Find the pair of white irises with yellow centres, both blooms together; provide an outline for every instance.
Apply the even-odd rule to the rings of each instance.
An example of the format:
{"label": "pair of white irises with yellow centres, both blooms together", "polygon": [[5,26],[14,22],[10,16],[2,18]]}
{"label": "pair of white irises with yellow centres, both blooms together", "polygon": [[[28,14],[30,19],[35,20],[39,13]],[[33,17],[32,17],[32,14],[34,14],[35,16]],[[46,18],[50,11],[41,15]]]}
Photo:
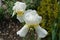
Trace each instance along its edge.
{"label": "pair of white irises with yellow centres, both blooms together", "polygon": [[48,32],[39,25],[42,20],[42,17],[37,14],[36,10],[25,9],[26,4],[23,2],[16,2],[13,6],[13,15],[14,13],[17,13],[17,19],[20,22],[25,21],[26,23],[19,31],[17,31],[17,35],[19,35],[20,37],[25,37],[30,26],[32,25],[35,28],[38,37],[44,38],[48,34]]}

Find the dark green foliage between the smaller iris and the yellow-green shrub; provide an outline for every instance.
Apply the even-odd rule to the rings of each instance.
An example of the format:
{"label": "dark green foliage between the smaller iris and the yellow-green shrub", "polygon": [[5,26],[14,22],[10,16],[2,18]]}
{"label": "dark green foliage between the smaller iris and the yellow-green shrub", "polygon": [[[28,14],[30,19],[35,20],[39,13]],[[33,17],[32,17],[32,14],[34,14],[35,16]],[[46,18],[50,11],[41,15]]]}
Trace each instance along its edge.
{"label": "dark green foliage between the smaller iris and the yellow-green shrub", "polygon": [[27,4],[27,9],[37,9],[40,0],[23,0]]}

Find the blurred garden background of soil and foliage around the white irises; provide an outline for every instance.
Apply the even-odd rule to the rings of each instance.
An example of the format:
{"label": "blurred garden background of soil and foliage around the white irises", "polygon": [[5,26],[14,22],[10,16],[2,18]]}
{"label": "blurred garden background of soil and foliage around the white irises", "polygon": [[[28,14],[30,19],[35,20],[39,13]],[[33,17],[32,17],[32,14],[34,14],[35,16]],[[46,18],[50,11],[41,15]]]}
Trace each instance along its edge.
{"label": "blurred garden background of soil and foliage around the white irises", "polygon": [[41,40],[60,40],[60,0],[0,0],[0,39],[1,40],[37,40],[35,30],[29,30],[25,38],[16,35],[24,25],[11,17],[12,7],[16,1],[27,4],[26,9],[35,9],[42,16],[41,26],[48,31],[48,35]]}

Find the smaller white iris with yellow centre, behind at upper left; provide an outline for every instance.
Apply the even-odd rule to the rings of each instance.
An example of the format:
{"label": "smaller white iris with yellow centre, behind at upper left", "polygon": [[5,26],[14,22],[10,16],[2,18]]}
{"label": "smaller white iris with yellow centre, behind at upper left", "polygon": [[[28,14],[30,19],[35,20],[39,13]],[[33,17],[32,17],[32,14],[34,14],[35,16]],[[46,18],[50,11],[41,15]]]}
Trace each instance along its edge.
{"label": "smaller white iris with yellow centre, behind at upper left", "polygon": [[20,21],[20,22],[24,22],[23,20],[23,14],[24,14],[24,11],[26,9],[26,4],[23,3],[23,2],[16,2],[13,6],[13,15],[14,16],[16,13],[17,13],[17,19]]}

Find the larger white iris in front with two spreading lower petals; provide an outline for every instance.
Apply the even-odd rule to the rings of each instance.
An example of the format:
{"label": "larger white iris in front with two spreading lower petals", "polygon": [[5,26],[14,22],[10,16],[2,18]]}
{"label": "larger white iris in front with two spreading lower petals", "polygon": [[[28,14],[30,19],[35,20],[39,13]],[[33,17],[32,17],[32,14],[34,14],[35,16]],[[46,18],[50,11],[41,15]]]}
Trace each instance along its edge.
{"label": "larger white iris in front with two spreading lower petals", "polygon": [[35,28],[35,31],[40,38],[44,38],[48,34],[47,31],[39,25],[42,17],[39,16],[35,10],[27,10],[24,13],[24,20],[26,24],[17,32],[17,35],[20,37],[25,37],[31,26]]}

